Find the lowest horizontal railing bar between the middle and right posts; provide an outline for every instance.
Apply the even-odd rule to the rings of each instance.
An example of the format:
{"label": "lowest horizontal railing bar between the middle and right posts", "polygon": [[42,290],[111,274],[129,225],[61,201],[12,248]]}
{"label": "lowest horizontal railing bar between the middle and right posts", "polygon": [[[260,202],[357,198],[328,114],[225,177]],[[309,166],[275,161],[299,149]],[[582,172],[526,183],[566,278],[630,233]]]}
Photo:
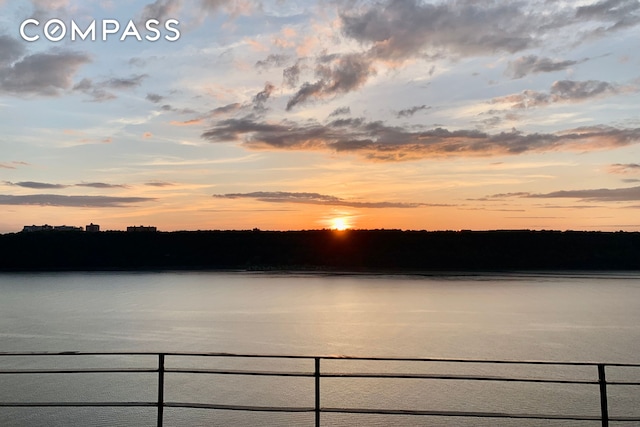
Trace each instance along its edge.
{"label": "lowest horizontal railing bar between the middle and right posts", "polygon": [[419,411],[409,409],[322,408],[321,412],[366,415],[420,415],[434,417],[511,418],[530,420],[600,421],[598,416],[556,414],[509,414],[505,412]]}

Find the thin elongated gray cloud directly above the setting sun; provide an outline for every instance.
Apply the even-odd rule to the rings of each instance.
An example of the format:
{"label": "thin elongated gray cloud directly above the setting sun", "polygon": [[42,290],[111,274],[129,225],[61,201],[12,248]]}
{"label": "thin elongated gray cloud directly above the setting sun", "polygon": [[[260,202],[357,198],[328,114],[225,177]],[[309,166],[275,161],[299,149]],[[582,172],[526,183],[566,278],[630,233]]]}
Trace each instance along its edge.
{"label": "thin elongated gray cloud directly above the setting sun", "polygon": [[336,196],[328,196],[319,193],[290,193],[286,191],[256,191],[253,193],[214,194],[220,199],[255,199],[261,202],[272,203],[303,203],[310,205],[345,206],[350,208],[417,208],[420,206],[441,206],[425,203],[402,202],[358,202],[345,200]]}

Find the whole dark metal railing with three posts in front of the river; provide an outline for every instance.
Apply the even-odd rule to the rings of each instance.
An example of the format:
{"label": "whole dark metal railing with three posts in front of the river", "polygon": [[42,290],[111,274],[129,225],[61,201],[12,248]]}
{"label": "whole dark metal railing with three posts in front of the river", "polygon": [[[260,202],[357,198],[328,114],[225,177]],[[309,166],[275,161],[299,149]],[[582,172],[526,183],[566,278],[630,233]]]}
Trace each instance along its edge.
{"label": "whole dark metal railing with three posts in front of the river", "polygon": [[[42,358],[60,356],[109,356],[109,357],[155,357],[157,367],[153,368],[31,368],[31,369],[0,369],[0,375],[34,375],[34,374],[102,374],[102,373],[148,373],[157,375],[157,399],[155,401],[66,401],[66,402],[0,402],[0,408],[20,408],[20,407],[155,407],[157,410],[157,425],[162,427],[164,421],[165,408],[192,408],[192,409],[214,409],[225,411],[257,411],[257,412],[285,412],[285,413],[314,413],[315,426],[320,426],[320,415],[328,413],[341,414],[370,414],[370,415],[415,415],[415,416],[438,416],[438,417],[466,417],[466,418],[510,418],[529,420],[567,420],[567,421],[592,421],[600,422],[603,427],[609,426],[609,422],[640,422],[638,416],[610,416],[607,396],[607,386],[640,386],[638,381],[608,381],[606,377],[607,368],[640,368],[640,364],[625,363],[592,363],[592,362],[551,362],[551,361],[523,361],[523,360],[473,360],[473,359],[443,359],[443,358],[382,358],[382,357],[347,357],[347,356],[293,356],[293,355],[258,355],[258,354],[228,354],[228,353],[150,353],[150,352],[23,352],[23,353],[0,353],[0,361],[5,358]],[[200,368],[173,368],[166,366],[167,358],[185,357],[207,357],[207,358],[232,358],[232,359],[297,359],[301,361],[313,362],[313,368],[308,371],[267,371],[267,370],[236,370],[236,369],[200,369]],[[415,363],[447,363],[447,364],[492,364],[492,365],[523,365],[529,367],[583,367],[593,369],[592,379],[567,379],[567,378],[533,378],[523,376],[488,376],[488,375],[452,375],[442,373],[404,373],[404,372],[324,372],[321,369],[321,362],[327,361],[357,361],[357,362],[415,362]],[[597,376],[595,375],[597,372]],[[165,400],[165,376],[167,374],[209,374],[209,375],[248,375],[267,377],[296,377],[313,378],[313,406],[246,406],[229,405],[215,403],[193,403],[193,402],[168,402]],[[483,382],[513,382],[513,383],[542,383],[542,384],[573,384],[573,385],[597,385],[599,390],[600,414],[580,415],[580,414],[526,414],[526,413],[506,413],[506,412],[467,412],[467,411],[435,411],[435,410],[409,410],[392,408],[353,408],[353,407],[325,407],[322,406],[321,380],[323,378],[369,378],[369,379],[419,379],[419,380],[451,380],[451,381],[483,381]],[[0,385],[0,387],[2,387]]]}

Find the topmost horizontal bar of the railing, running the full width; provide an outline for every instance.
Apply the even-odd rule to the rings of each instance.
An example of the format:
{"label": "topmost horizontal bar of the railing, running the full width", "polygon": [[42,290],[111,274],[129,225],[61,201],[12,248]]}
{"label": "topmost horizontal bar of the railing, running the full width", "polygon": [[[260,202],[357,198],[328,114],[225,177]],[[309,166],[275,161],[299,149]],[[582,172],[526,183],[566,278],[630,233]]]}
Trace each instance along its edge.
{"label": "topmost horizontal bar of the railing, running the full width", "polygon": [[547,361],[547,360],[488,360],[488,359],[447,359],[447,358],[402,358],[402,357],[360,357],[360,356],[305,356],[305,355],[276,355],[276,354],[234,354],[234,353],[182,353],[182,352],[0,352],[2,356],[189,356],[189,357],[234,357],[234,358],[262,358],[262,359],[305,359],[314,360],[366,360],[382,362],[442,362],[442,363],[478,363],[478,364],[509,364],[509,365],[552,365],[552,366],[597,366],[640,368],[640,363],[598,363],[579,361]]}

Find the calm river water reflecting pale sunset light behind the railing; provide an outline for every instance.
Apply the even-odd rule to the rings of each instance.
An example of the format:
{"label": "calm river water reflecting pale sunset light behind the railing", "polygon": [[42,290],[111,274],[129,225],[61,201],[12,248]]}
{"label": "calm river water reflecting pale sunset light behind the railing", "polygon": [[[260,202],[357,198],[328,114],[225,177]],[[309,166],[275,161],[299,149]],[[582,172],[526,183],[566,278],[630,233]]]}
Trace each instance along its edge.
{"label": "calm river water reflecting pale sunset light behind the railing", "polygon": [[[640,362],[637,273],[21,273],[0,274],[0,296],[3,352],[227,352]],[[56,363],[94,366],[100,362],[63,359]],[[3,368],[13,369],[33,366],[32,361],[22,358],[4,358],[0,363]],[[150,358],[125,363],[154,367],[156,361]],[[192,359],[187,363],[209,366],[212,362]],[[287,365],[284,370],[311,368]],[[327,362],[328,370],[342,368]],[[380,368],[387,367],[353,367],[356,371]],[[460,373],[459,367],[443,369]],[[485,368],[470,369],[476,372]],[[576,369],[559,375],[592,378],[593,372]],[[64,379],[52,375],[4,375],[0,381],[2,401],[153,401],[156,396],[156,378],[152,374],[70,375]],[[166,400],[313,405],[312,379],[282,381],[174,374],[167,376]],[[323,381],[323,405],[333,407],[599,413],[597,387],[593,386]],[[614,415],[640,415],[635,409],[640,407],[640,388],[623,388],[612,390],[610,407]],[[154,414],[153,409],[130,408],[0,408],[0,425],[155,425]],[[313,425],[313,416],[308,414],[171,408],[165,414],[165,425],[176,426]],[[323,425],[335,426],[598,425],[584,421],[543,423],[323,414]]]}

